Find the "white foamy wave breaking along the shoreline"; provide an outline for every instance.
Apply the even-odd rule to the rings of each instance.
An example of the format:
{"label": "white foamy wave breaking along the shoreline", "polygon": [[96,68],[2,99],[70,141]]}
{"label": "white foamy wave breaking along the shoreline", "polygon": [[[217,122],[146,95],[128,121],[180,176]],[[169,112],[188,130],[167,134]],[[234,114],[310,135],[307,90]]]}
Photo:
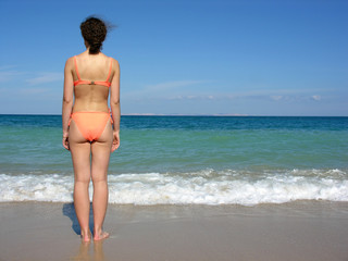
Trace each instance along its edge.
{"label": "white foamy wave breaking along the shoreline", "polygon": [[[0,202],[72,202],[73,182],[73,176],[59,174],[0,174]],[[145,206],[348,201],[348,177],[345,171],[339,170],[294,170],[261,174],[213,170],[186,174],[111,174],[109,195],[110,203]]]}

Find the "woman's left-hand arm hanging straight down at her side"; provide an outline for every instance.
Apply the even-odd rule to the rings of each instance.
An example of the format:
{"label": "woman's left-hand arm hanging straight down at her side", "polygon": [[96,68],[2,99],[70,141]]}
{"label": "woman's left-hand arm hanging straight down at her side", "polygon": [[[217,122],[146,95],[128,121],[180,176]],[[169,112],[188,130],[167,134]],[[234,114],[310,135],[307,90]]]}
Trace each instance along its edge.
{"label": "woman's left-hand arm hanging straight down at her side", "polygon": [[64,69],[64,92],[62,105],[63,146],[69,150],[69,121],[74,102],[73,60],[67,59]]}

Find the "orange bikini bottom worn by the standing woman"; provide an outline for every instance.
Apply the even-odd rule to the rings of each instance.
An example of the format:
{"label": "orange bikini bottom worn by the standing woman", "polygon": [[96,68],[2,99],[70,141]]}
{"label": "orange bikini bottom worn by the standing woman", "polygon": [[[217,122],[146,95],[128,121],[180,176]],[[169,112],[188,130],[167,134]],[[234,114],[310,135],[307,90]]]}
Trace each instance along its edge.
{"label": "orange bikini bottom worn by the standing woman", "polygon": [[88,140],[97,140],[104,130],[108,121],[112,124],[112,119],[109,112],[74,112],[71,115],[69,125],[72,120],[77,125],[78,130]]}

